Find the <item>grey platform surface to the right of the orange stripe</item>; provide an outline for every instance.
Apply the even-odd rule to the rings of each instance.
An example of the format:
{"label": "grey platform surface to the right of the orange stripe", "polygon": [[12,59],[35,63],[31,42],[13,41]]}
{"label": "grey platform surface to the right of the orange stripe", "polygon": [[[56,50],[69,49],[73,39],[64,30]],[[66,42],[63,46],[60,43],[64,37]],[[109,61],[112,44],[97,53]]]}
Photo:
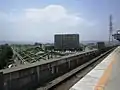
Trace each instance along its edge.
{"label": "grey platform surface to the right of the orange stripe", "polygon": [[105,90],[120,90],[120,47],[116,50],[114,63]]}

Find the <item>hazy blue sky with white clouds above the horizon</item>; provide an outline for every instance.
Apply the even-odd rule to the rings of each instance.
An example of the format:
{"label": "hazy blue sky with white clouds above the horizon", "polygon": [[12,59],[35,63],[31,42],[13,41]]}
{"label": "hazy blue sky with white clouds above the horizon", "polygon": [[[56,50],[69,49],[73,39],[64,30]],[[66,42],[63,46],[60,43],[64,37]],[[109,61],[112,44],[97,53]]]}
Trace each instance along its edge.
{"label": "hazy blue sky with white clouds above the horizon", "polygon": [[0,0],[0,41],[53,42],[54,34],[107,41],[109,16],[120,25],[120,0]]}

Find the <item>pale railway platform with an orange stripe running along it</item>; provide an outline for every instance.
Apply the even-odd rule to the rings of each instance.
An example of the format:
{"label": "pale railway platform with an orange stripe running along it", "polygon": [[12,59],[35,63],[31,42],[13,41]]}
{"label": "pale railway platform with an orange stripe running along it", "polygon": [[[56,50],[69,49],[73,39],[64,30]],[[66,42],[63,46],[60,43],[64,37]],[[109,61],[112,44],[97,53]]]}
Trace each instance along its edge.
{"label": "pale railway platform with an orange stripe running along it", "polygon": [[69,90],[120,90],[120,46]]}

